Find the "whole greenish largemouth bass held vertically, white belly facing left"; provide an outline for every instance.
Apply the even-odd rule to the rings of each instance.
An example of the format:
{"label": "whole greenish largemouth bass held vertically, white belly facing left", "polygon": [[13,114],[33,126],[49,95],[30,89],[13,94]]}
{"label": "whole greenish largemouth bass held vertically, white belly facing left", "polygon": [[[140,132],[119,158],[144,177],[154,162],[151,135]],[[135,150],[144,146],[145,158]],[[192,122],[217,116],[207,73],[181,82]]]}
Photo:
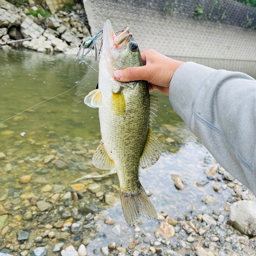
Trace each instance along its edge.
{"label": "whole greenish largemouth bass held vertically, white belly facing left", "polygon": [[159,101],[150,95],[146,81],[124,83],[113,77],[115,70],[143,66],[129,28],[115,34],[110,21],[105,20],[102,48],[98,89],[84,99],[87,105],[99,108],[102,140],[93,155],[93,164],[100,169],[116,169],[123,215],[133,225],[140,214],[157,218],[140,183],[139,167],[155,164],[162,152],[150,127]]}

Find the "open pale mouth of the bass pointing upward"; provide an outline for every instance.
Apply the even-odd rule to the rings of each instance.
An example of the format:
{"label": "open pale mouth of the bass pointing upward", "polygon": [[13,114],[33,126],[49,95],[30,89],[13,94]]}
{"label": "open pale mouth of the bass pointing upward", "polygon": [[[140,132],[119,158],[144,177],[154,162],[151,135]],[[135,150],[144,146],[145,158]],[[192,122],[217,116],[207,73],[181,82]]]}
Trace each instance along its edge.
{"label": "open pale mouth of the bass pointing upward", "polygon": [[113,48],[119,49],[126,45],[126,41],[130,36],[132,34],[128,27],[115,34],[110,20],[106,19],[103,26],[103,46],[105,53],[110,52]]}

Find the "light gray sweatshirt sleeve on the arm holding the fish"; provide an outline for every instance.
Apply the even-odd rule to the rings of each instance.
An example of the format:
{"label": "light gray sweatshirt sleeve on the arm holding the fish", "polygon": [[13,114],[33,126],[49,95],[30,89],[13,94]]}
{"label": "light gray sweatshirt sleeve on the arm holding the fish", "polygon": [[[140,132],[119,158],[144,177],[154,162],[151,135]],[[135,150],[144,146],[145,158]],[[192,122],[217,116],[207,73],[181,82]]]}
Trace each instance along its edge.
{"label": "light gray sweatshirt sleeve on the arm holding the fish", "polygon": [[169,100],[211,155],[256,195],[256,81],[186,62],[174,73]]}

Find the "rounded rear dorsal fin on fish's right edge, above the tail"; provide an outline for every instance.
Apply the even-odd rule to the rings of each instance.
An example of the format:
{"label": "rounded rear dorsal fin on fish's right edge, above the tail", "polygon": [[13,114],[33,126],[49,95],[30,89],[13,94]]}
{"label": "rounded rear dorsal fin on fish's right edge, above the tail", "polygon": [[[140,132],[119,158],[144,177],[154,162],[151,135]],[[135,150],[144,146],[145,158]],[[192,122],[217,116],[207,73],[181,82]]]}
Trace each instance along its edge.
{"label": "rounded rear dorsal fin on fish's right edge, above the tail", "polygon": [[140,167],[146,168],[154,165],[162,154],[161,142],[153,133],[151,128],[148,131],[146,144],[140,157]]}

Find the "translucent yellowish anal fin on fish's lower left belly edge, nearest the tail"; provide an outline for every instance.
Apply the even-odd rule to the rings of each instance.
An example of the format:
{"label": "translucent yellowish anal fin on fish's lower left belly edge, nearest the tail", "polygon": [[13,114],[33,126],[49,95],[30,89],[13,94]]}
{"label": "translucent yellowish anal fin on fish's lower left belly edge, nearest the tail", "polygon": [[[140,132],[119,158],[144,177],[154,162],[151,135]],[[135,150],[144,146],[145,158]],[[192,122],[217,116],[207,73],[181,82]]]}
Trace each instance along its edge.
{"label": "translucent yellowish anal fin on fish's lower left belly edge, nearest the tail", "polygon": [[96,152],[93,155],[93,164],[95,167],[102,170],[109,170],[115,167],[115,163],[111,160],[106,152],[104,142],[101,140]]}

